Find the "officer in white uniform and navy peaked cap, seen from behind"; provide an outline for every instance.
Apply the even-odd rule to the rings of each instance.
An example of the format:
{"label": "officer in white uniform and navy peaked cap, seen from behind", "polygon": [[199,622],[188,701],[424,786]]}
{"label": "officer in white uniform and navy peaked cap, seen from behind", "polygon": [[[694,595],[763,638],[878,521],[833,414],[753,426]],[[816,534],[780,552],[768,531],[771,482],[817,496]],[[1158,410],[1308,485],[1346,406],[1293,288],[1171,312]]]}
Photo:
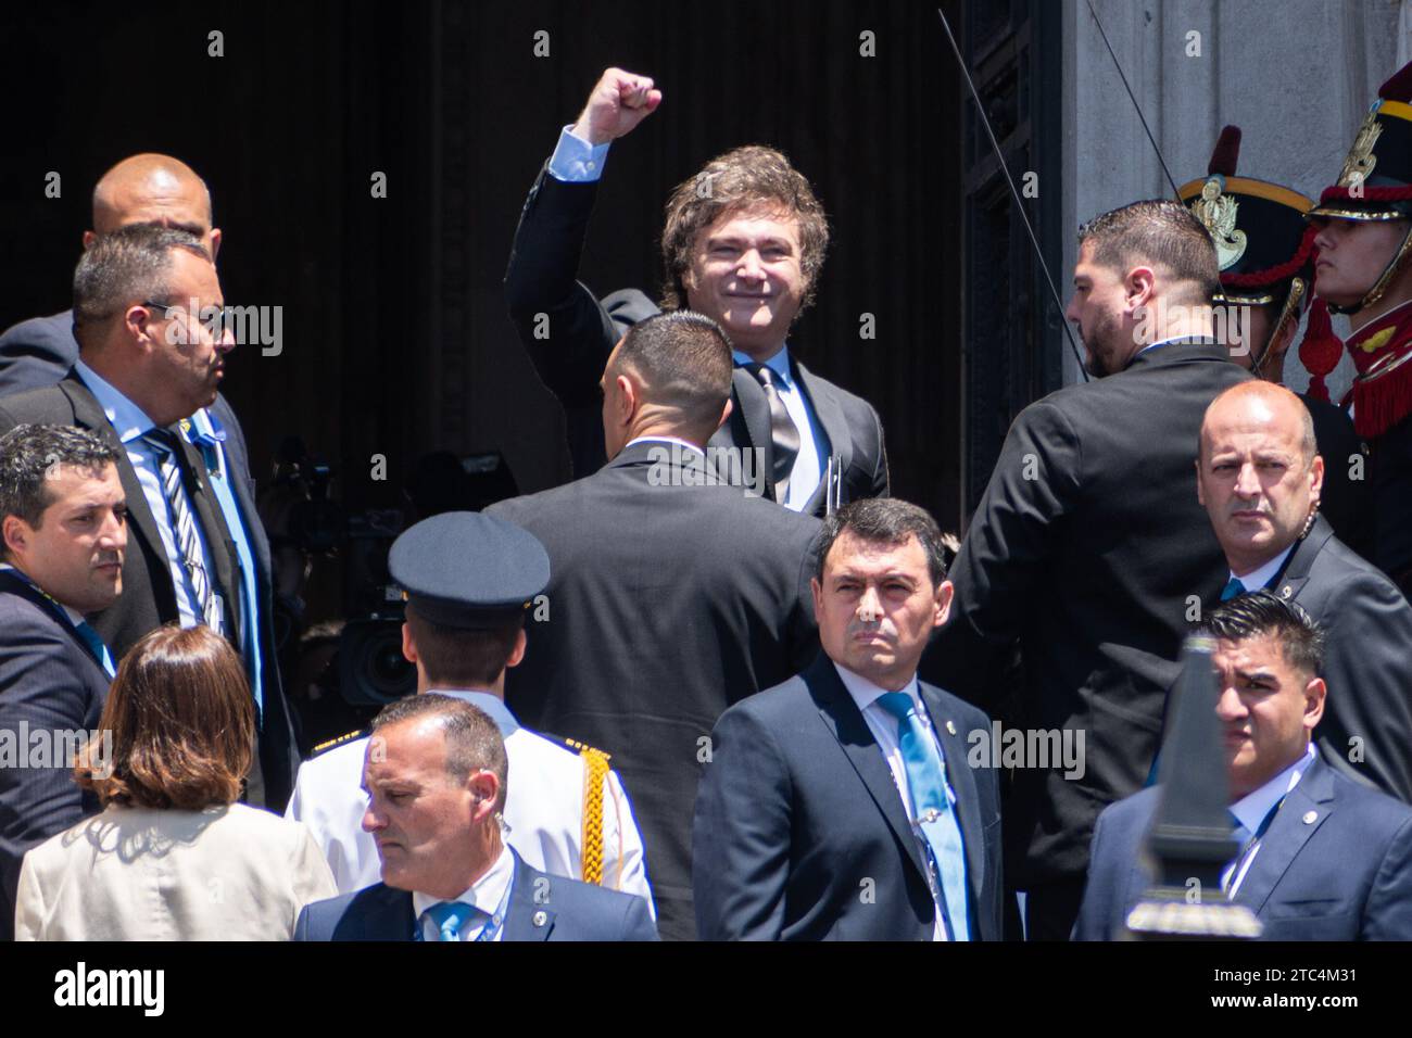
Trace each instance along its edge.
{"label": "officer in white uniform and navy peaked cap, seen from behind", "polygon": [[[472,703],[505,740],[513,777],[505,842],[534,869],[651,905],[642,839],[607,754],[530,732],[504,703],[505,668],[522,658],[525,617],[549,582],[539,541],[505,520],[448,513],[398,537],[388,571],[407,597],[402,651],[417,664],[417,691]],[[505,637],[498,654],[497,633]],[[467,661],[484,668],[481,679],[466,679]],[[380,880],[377,845],[363,830],[369,743],[356,732],[318,747],[299,768],[289,802],[288,816],[313,832],[340,893]]]}

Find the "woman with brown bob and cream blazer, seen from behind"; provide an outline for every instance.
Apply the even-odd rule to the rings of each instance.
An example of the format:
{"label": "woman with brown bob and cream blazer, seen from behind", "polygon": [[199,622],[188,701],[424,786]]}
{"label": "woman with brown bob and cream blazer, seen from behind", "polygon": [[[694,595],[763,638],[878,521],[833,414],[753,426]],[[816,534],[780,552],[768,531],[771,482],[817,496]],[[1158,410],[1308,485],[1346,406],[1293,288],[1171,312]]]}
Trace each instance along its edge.
{"label": "woman with brown bob and cream blazer, seen from behind", "polygon": [[288,941],[337,890],[309,832],[239,804],[254,753],[244,669],[206,627],[133,645],[75,780],[103,805],[24,857],[17,941]]}

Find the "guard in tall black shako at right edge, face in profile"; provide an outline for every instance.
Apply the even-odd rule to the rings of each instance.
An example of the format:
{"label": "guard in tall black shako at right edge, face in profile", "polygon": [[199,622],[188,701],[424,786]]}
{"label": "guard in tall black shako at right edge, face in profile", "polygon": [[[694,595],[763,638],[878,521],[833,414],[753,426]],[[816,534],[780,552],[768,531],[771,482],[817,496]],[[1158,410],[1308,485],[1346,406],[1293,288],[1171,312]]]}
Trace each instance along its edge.
{"label": "guard in tall black shako at right edge, face in profile", "polygon": [[1343,400],[1370,446],[1371,561],[1412,590],[1412,65],[1378,89],[1339,175],[1309,212],[1315,292],[1347,314],[1358,374]]}

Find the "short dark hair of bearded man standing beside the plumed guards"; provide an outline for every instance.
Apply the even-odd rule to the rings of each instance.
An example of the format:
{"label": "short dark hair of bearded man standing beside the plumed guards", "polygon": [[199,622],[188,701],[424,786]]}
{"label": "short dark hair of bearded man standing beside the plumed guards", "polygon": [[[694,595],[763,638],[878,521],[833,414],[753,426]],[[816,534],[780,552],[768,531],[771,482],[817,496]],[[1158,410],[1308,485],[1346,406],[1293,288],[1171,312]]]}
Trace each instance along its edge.
{"label": "short dark hair of bearded man standing beside the plumed guards", "polygon": [[1096,216],[1079,227],[1079,247],[1084,243],[1093,246],[1094,263],[1123,274],[1139,264],[1165,267],[1173,281],[1195,284],[1207,306],[1220,292],[1220,264],[1211,236],[1175,199],[1144,199]]}

